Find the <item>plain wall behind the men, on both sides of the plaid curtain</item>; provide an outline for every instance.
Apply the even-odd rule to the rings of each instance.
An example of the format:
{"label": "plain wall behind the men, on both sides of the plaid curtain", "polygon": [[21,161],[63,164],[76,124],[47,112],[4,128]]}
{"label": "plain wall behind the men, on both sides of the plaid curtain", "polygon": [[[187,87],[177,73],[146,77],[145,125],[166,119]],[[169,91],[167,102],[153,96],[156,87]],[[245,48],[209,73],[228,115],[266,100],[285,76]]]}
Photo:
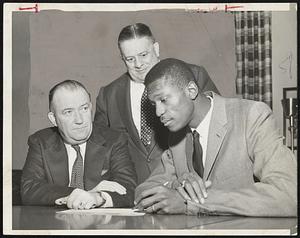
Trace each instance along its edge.
{"label": "plain wall behind the men, on both sides of the plaid curtain", "polygon": [[[82,81],[95,100],[100,86],[125,71],[116,41],[127,24],[148,24],[160,43],[162,58],[204,65],[224,96],[236,96],[231,13],[42,11],[30,14],[30,20],[20,14],[13,19],[14,169],[23,167],[28,136],[50,125],[50,87],[73,78]],[[282,131],[282,88],[297,85],[296,11],[272,13],[272,46],[273,110]],[[279,67],[289,68],[285,59],[290,54],[291,72]]]}

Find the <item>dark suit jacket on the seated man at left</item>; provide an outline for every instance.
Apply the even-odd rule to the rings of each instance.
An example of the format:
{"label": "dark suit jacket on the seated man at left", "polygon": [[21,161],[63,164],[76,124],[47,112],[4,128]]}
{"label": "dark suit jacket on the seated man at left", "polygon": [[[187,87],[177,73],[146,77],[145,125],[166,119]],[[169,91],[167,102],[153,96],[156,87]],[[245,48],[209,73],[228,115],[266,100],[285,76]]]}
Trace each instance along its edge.
{"label": "dark suit jacket on the seated man at left", "polygon": [[[68,155],[57,127],[36,132],[28,139],[29,150],[21,181],[25,205],[54,205],[57,198],[69,195]],[[104,169],[107,172],[103,174]],[[125,135],[110,128],[97,128],[86,145],[84,159],[85,190],[102,180],[123,185],[127,193],[111,195],[114,207],[131,207],[136,186],[136,172],[130,160]]]}

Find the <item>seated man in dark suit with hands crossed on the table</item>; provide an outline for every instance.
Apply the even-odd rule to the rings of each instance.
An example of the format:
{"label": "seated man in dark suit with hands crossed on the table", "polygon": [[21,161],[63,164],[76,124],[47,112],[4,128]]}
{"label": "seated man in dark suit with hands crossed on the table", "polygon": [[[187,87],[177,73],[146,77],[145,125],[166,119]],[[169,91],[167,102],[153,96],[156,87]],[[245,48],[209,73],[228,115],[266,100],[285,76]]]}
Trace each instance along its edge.
{"label": "seated man in dark suit with hands crossed on the table", "polygon": [[23,204],[131,207],[136,173],[127,138],[109,128],[92,130],[92,103],[86,88],[74,80],[55,85],[49,108],[48,118],[55,127],[28,139]]}

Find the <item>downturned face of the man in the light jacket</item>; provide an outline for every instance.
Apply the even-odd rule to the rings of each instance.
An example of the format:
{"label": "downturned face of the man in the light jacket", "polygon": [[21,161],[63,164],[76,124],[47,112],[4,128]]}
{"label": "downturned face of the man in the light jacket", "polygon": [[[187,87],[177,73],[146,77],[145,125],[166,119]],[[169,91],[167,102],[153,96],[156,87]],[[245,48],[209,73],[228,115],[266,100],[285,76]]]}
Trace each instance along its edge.
{"label": "downturned face of the man in the light jacket", "polygon": [[170,131],[178,131],[189,125],[194,112],[194,104],[187,88],[154,81],[148,86],[149,99],[155,104],[156,115]]}

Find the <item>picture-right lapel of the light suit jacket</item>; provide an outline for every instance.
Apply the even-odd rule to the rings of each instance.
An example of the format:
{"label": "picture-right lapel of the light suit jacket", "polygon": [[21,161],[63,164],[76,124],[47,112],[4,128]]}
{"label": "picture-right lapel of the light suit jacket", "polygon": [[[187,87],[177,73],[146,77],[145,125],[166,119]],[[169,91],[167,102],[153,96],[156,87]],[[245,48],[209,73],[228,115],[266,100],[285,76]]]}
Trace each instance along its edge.
{"label": "picture-right lapel of the light suit jacket", "polygon": [[214,93],[212,96],[214,99],[214,108],[208,133],[207,152],[203,175],[205,180],[207,180],[210,175],[227,132],[225,102],[220,96]]}

